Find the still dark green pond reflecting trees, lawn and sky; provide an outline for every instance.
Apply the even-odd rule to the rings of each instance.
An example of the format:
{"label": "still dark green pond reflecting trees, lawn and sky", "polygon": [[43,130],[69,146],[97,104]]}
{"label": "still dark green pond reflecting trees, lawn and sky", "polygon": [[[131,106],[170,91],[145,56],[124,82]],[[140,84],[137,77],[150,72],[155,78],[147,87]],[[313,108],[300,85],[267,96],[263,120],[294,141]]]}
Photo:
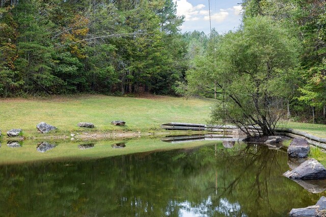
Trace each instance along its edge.
{"label": "still dark green pond reflecting trees, lawn and sky", "polygon": [[324,183],[301,183],[309,192],[282,176],[289,169],[282,148],[160,139],[31,143],[2,142],[1,216],[287,216],[325,196]]}

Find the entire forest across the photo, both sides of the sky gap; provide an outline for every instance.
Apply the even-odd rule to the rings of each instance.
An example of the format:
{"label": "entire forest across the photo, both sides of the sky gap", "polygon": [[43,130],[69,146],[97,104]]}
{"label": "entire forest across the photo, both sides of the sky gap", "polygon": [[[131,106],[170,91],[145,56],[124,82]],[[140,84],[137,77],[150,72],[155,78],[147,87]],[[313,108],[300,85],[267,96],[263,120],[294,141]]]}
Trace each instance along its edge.
{"label": "entire forest across the photo, both sides of the sky gap", "polygon": [[199,95],[264,134],[326,123],[326,2],[240,4],[237,31],[205,34],[181,33],[173,0],[1,0],[0,95]]}

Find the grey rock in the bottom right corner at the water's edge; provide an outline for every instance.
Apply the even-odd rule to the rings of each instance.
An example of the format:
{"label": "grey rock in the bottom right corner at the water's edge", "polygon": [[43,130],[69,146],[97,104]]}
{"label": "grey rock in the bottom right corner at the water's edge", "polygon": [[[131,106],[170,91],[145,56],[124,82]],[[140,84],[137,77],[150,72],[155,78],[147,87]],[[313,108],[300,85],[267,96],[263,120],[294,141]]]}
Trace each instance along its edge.
{"label": "grey rock in the bottom right corner at the water's edge", "polygon": [[290,211],[290,216],[292,217],[302,217],[302,216],[321,217],[321,216],[325,216],[325,214],[326,214],[326,197],[324,196],[322,196],[314,206],[292,209]]}

